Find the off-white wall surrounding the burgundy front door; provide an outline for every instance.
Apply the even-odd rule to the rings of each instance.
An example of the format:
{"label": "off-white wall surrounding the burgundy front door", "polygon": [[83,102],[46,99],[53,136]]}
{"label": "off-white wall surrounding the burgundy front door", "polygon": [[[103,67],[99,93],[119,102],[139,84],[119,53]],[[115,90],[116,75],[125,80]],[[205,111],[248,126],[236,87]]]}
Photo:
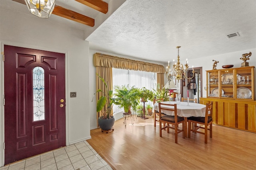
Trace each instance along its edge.
{"label": "off-white wall surrounding the burgundy front door", "polygon": [[[11,10],[10,7],[14,9]],[[66,54],[66,145],[90,139],[89,43],[74,30],[28,12],[23,4],[0,1],[1,54],[4,44]],[[0,166],[4,165],[4,63],[0,61]],[[76,98],[70,98],[76,92]]]}

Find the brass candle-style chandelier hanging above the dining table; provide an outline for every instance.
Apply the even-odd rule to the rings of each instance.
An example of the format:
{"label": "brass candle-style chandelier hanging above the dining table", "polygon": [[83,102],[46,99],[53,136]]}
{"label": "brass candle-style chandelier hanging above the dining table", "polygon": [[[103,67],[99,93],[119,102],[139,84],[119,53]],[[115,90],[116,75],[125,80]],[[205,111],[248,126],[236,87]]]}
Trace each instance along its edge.
{"label": "brass candle-style chandelier hanging above the dining table", "polygon": [[178,82],[180,82],[180,79],[184,80],[185,78],[187,79],[191,79],[194,77],[195,75],[195,71],[194,71],[194,67],[192,70],[193,75],[190,77],[186,76],[186,72],[188,70],[188,59],[186,59],[186,64],[180,64],[180,56],[179,56],[179,48],[180,46],[176,47],[178,49],[178,59],[177,59],[177,63],[174,64],[174,60],[173,60],[173,66],[172,66],[172,70],[170,68],[170,61],[168,61],[168,66],[166,66],[166,77],[168,78],[169,81],[174,80],[174,77],[176,78],[176,80],[178,80]]}

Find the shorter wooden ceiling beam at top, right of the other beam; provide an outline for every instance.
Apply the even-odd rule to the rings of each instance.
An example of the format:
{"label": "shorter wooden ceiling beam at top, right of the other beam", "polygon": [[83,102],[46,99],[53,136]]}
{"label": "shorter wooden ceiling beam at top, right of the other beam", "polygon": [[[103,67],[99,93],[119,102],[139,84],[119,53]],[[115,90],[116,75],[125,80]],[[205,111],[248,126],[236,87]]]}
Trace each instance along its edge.
{"label": "shorter wooden ceiling beam at top, right of the other beam", "polygon": [[103,0],[75,0],[75,1],[80,2],[81,4],[84,4],[86,6],[89,6],[94,10],[97,10],[104,14],[108,12],[108,3],[104,2]]}

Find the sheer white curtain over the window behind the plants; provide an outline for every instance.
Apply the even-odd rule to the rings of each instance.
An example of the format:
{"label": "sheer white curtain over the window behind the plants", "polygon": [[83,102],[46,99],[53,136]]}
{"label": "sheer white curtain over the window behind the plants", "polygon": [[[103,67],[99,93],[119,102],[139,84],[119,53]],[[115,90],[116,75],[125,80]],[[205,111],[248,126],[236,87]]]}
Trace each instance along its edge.
{"label": "sheer white curtain over the window behind the plants", "polygon": [[[134,71],[134,70],[124,70],[118,68],[112,68],[112,81],[113,86],[127,85],[130,87],[135,86],[136,88],[145,87],[152,90],[156,86],[156,73],[145,72],[145,71]],[[149,102],[152,105],[152,102]],[[147,104],[147,102],[146,102]],[[118,106],[113,106],[114,114],[122,112],[123,109],[119,109]]]}

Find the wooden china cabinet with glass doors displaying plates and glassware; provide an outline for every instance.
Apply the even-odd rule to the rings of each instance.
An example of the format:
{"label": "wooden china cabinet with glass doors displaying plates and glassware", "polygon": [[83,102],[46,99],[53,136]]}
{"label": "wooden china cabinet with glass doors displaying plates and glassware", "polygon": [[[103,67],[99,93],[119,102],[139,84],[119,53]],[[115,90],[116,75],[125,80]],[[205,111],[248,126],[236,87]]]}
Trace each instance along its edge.
{"label": "wooden china cabinet with glass doors displaying plates and glassware", "polygon": [[207,98],[213,102],[214,124],[256,133],[254,66],[206,71]]}

